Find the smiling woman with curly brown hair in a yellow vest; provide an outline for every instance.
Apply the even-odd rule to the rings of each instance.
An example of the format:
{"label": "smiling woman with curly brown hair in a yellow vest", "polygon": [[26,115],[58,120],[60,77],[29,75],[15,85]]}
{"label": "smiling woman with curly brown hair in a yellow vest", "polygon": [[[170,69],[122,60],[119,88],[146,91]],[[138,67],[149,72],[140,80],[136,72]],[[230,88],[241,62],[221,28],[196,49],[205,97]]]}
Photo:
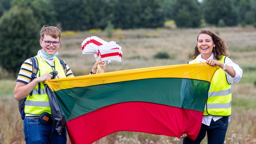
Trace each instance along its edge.
{"label": "smiling woman with curly brown hair in a yellow vest", "polygon": [[219,66],[210,84],[202,125],[195,141],[184,138],[183,144],[200,143],[206,136],[208,143],[224,143],[231,115],[231,83],[238,83],[242,69],[228,58],[227,46],[220,37],[209,30],[201,30],[189,64],[206,62]]}

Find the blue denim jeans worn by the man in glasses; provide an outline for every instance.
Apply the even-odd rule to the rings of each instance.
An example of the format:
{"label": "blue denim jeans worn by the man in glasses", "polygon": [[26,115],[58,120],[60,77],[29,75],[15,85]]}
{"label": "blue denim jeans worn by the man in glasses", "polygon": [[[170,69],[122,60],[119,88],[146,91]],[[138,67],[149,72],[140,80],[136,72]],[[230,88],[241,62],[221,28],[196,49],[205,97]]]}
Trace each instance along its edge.
{"label": "blue denim jeans worn by the man in glasses", "polygon": [[66,127],[59,135],[54,131],[53,124],[42,124],[39,118],[24,119],[24,135],[26,144],[66,144]]}

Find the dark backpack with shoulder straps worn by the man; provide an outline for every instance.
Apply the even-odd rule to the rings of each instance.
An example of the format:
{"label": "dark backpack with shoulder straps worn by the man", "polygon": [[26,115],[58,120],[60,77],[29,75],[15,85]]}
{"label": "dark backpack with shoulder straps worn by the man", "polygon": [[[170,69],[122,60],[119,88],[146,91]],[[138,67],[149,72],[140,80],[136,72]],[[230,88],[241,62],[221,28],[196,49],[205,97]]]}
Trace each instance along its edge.
{"label": "dark backpack with shoulder straps worn by the man", "polygon": [[[39,68],[38,68],[38,60],[36,57],[32,57],[30,58],[30,60],[32,61],[32,75],[31,75],[31,81],[33,81],[35,78],[36,78],[36,75],[37,75],[37,72],[39,71]],[[65,74],[67,74],[67,69],[66,69],[66,66],[65,66],[65,63],[63,60],[59,59],[61,65],[62,65],[62,68],[65,72]],[[40,77],[40,71],[39,71],[39,77]],[[38,94],[41,93],[40,91],[40,83],[38,84]],[[30,96],[32,96],[32,93],[33,91],[30,92]],[[25,112],[24,112],[24,108],[25,108],[25,102],[26,102],[26,99],[27,97],[19,100],[18,102],[18,106],[19,106],[19,111],[20,111],[20,114],[21,114],[21,119],[24,120],[25,118]]]}

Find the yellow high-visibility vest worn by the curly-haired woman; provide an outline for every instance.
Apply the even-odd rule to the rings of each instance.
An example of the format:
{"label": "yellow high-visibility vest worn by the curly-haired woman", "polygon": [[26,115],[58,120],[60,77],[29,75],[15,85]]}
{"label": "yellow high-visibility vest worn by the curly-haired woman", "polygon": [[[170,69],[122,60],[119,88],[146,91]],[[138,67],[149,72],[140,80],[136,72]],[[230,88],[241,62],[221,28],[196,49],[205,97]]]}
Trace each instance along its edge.
{"label": "yellow high-visibility vest worn by the curly-haired woman", "polygon": [[[218,62],[225,62],[226,56],[221,56]],[[189,64],[197,63],[196,59]],[[218,69],[212,79],[204,115],[230,116],[231,115],[231,85],[227,82],[226,73]]]}

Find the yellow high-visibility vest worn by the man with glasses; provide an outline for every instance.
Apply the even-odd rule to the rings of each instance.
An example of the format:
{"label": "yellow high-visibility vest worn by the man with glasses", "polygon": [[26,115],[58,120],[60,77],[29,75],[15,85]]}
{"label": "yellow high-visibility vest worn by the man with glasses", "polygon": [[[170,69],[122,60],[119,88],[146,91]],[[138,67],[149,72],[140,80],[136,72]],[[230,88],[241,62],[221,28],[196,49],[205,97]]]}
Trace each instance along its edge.
{"label": "yellow high-visibility vest worn by the man with glasses", "polygon": [[[40,56],[35,56],[38,60],[38,68],[40,75],[45,73],[50,73],[53,71],[52,67],[44,61]],[[61,66],[61,63],[57,57],[54,57],[54,68],[58,71],[58,75],[61,78],[66,78],[66,74]],[[37,73],[37,78],[39,77],[39,71]],[[44,82],[40,82],[40,94],[38,94],[38,85],[34,88],[32,96],[28,95],[25,102],[25,113],[26,114],[42,114],[47,112],[51,114],[49,97],[46,93],[46,88]]]}

